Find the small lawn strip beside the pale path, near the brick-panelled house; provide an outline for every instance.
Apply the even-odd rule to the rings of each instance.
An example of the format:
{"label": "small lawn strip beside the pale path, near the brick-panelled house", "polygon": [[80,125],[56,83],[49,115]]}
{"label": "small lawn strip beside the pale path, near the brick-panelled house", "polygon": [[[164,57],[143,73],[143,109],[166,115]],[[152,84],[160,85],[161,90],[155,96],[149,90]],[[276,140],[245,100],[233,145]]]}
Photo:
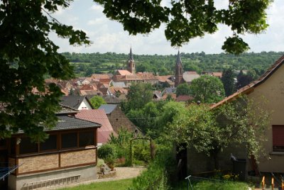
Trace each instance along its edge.
{"label": "small lawn strip beside the pale path, near the brick-panelled house", "polygon": [[66,187],[61,190],[125,190],[132,184],[132,179],[121,179],[116,181],[102,181],[75,187]]}

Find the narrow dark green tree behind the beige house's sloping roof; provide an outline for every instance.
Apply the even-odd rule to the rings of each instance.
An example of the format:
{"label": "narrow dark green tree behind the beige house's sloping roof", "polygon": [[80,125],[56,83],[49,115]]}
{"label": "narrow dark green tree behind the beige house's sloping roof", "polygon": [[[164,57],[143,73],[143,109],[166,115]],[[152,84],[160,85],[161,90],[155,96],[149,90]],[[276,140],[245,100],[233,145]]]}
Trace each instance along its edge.
{"label": "narrow dark green tree behind the beige house's sloping roof", "polygon": [[221,80],[224,85],[226,96],[230,96],[231,94],[233,94],[235,91],[235,80],[234,72],[231,68],[224,69]]}

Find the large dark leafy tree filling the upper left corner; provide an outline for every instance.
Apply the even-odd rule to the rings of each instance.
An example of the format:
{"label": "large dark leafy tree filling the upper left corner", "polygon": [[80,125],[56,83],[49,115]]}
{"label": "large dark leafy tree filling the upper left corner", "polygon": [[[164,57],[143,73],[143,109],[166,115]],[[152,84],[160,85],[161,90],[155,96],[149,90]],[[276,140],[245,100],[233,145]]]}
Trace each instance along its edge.
{"label": "large dark leafy tree filling the upper left corner", "polygon": [[[45,85],[44,76],[73,77],[69,61],[60,55],[49,34],[69,39],[70,45],[89,44],[85,33],[59,23],[50,13],[70,1],[10,1],[0,3],[0,138],[23,130],[43,140],[44,128],[57,121],[60,89]],[[33,93],[37,89],[39,93]],[[9,128],[8,128],[9,127]]]}

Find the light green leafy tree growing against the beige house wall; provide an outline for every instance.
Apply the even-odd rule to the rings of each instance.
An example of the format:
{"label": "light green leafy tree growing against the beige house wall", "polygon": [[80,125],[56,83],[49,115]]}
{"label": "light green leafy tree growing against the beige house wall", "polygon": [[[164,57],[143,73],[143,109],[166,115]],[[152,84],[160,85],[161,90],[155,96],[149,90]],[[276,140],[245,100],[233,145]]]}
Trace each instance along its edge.
{"label": "light green leafy tree growing against the beige house wall", "polygon": [[169,125],[167,139],[204,152],[214,159],[215,169],[219,169],[219,153],[229,145],[244,146],[248,156],[258,158],[263,150],[261,142],[266,139],[264,132],[268,121],[268,111],[247,99],[214,110],[192,104]]}

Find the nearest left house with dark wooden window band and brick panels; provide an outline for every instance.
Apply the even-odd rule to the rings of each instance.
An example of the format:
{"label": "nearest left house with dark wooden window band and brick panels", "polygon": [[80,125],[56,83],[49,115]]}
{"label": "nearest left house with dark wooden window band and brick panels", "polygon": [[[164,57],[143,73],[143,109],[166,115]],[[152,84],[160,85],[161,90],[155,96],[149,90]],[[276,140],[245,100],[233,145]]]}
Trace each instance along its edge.
{"label": "nearest left house with dark wooden window band and brick panels", "polygon": [[58,123],[46,129],[44,143],[31,143],[23,131],[6,139],[6,160],[18,168],[1,189],[48,188],[97,179],[97,128],[101,125],[75,118],[68,106],[56,113]]}

